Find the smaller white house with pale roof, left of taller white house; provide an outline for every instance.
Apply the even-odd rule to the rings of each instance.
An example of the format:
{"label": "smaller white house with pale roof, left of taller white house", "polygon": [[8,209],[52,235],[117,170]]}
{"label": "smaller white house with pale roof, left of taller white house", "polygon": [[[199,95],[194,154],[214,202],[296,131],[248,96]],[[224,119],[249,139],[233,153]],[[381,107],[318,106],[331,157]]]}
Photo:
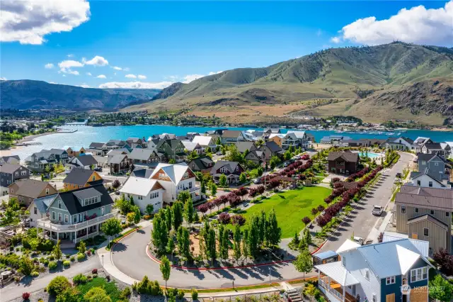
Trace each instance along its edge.
{"label": "smaller white house with pale roof, left of taller white house", "polygon": [[164,206],[164,187],[156,179],[142,177],[129,177],[120,189],[127,198],[134,198],[135,205],[139,206],[140,212],[146,213],[147,205],[152,204],[154,212]]}

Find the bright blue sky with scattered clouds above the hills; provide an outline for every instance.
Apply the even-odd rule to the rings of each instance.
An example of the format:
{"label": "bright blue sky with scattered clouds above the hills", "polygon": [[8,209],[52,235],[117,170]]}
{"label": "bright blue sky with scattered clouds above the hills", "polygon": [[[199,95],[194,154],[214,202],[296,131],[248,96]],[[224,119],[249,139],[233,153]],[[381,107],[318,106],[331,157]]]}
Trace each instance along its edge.
{"label": "bright blue sky with scattered clouds above the hills", "polygon": [[[71,1],[83,9],[71,12],[77,20],[69,29],[49,30],[43,25],[44,32],[50,33],[41,35],[36,28],[29,29],[34,33],[18,33],[1,21],[0,33],[6,38],[0,43],[0,77],[91,87],[162,88],[210,72],[268,66],[326,47],[380,44],[394,37],[453,45],[452,1],[91,1],[88,10],[84,0]],[[398,13],[420,5],[424,8]],[[432,21],[426,21],[426,16],[432,16],[427,9],[437,18],[434,28],[411,32],[410,27],[432,26]],[[40,18],[40,24],[45,24],[43,15],[23,16],[23,20]],[[398,19],[389,19],[395,15]],[[357,21],[372,16],[376,20],[371,24]],[[387,22],[377,22],[383,20]],[[68,31],[54,32],[60,30]],[[439,30],[446,33],[434,34]],[[379,34],[383,32],[384,38]],[[81,66],[74,67],[73,62],[71,67],[59,67],[65,60]],[[100,75],[105,78],[97,78]]]}

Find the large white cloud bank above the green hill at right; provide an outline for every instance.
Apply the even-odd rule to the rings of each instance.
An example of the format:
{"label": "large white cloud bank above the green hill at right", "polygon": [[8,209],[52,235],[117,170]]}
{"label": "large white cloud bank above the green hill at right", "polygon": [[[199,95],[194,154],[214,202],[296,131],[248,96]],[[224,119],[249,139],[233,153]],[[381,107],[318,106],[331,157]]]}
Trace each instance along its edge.
{"label": "large white cloud bank above the green hill at right", "polygon": [[396,15],[379,21],[374,16],[362,18],[344,26],[340,37],[365,45],[400,40],[450,46],[453,45],[453,0],[439,9],[426,9],[422,5],[401,9]]}

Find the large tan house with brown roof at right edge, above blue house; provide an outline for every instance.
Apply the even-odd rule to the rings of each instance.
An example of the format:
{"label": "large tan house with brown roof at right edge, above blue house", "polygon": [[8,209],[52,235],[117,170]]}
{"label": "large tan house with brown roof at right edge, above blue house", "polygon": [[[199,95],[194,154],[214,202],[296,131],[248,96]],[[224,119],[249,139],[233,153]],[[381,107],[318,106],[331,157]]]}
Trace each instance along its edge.
{"label": "large tan house with brown roof at right edge, above blue house", "polygon": [[430,242],[430,254],[452,250],[453,190],[401,186],[395,198],[396,232]]}

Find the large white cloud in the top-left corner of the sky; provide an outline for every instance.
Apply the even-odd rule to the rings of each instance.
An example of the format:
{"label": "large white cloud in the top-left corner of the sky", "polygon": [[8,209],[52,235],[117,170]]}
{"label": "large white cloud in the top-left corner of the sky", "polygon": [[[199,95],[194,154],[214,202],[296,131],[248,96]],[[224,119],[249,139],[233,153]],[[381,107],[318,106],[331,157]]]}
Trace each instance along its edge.
{"label": "large white cloud in the top-left corner of the sky", "polygon": [[50,33],[71,31],[90,17],[86,0],[2,0],[0,40],[40,45]]}

